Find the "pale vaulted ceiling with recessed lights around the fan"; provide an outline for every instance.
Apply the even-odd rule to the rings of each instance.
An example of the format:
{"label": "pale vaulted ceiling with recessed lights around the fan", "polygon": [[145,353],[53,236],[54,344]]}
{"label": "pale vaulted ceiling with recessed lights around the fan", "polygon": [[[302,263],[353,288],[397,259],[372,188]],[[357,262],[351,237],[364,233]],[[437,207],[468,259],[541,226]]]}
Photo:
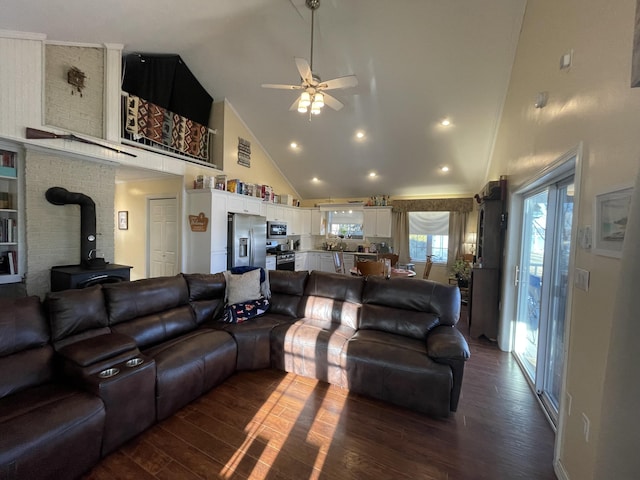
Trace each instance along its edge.
{"label": "pale vaulted ceiling with recessed lights around the fan", "polygon": [[289,111],[299,92],[261,88],[300,82],[294,58],[310,56],[305,0],[5,0],[0,29],[179,54],[216,101],[231,103],[302,198],[479,190],[526,0],[320,3],[314,72],[353,74],[359,85],[331,91],[344,108],[325,107],[311,121]]}

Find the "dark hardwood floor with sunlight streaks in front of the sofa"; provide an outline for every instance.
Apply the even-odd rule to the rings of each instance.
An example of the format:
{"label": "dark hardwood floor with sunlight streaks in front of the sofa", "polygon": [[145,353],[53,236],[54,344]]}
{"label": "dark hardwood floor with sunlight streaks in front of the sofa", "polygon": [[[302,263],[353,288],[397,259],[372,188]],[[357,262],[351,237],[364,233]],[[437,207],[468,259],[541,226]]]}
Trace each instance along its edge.
{"label": "dark hardwood floor with sunlight streaks in front of the sofa", "polygon": [[489,341],[469,344],[449,418],[280,371],[241,372],[85,479],[555,479],[554,434],[518,365]]}

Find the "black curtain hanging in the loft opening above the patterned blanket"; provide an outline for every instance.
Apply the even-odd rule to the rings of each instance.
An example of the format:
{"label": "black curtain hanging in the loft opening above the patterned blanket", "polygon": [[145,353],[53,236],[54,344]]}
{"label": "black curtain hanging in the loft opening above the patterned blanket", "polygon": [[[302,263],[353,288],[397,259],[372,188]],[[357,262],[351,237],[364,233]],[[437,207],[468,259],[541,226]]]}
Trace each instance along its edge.
{"label": "black curtain hanging in the loft opening above the patterned blanket", "polygon": [[213,97],[179,55],[131,53],[122,58],[122,90],[209,125]]}

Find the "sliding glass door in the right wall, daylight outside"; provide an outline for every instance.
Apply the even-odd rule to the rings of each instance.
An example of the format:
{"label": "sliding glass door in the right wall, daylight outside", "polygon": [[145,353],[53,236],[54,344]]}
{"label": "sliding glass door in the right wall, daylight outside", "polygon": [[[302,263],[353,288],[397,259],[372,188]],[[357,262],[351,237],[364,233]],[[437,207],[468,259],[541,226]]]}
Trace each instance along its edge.
{"label": "sliding glass door in the right wall, daylight outside", "polygon": [[565,347],[573,176],[524,194],[514,352],[557,421]]}

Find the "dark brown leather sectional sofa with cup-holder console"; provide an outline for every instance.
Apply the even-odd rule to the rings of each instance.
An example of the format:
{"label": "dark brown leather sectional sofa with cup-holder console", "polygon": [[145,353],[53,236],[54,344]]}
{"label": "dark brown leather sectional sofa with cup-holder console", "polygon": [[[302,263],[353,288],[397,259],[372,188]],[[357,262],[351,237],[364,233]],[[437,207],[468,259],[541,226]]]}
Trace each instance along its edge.
{"label": "dark brown leather sectional sofa with cup-holder console", "polygon": [[221,273],[0,300],[0,479],[76,478],[236,370],[456,410],[469,349],[455,286],[269,273],[269,312],[242,324],[219,321]]}

